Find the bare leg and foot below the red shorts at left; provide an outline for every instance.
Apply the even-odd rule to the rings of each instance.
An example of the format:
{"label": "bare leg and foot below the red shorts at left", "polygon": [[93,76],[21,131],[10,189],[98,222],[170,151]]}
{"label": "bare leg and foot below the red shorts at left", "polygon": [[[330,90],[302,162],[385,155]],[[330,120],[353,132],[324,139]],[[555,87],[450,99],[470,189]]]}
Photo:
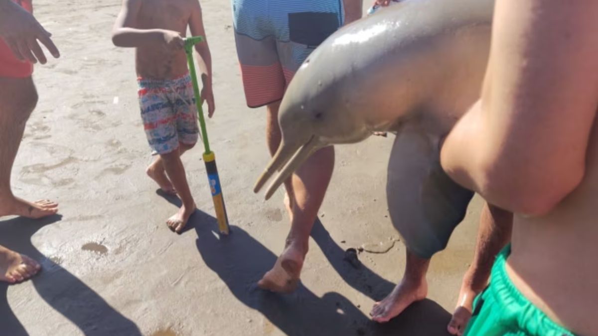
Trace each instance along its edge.
{"label": "bare leg and foot below the red shorts at left", "polygon": [[52,201],[31,202],[15,197],[10,187],[14,158],[37,99],[30,77],[0,78],[0,216],[41,218],[58,211],[58,204]]}

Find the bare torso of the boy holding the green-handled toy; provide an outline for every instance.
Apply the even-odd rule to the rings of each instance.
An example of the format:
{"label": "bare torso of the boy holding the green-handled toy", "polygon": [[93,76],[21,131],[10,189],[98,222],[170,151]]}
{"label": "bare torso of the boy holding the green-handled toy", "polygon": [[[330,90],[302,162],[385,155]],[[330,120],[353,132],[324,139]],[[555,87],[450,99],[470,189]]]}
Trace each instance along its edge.
{"label": "bare torso of the boy holding the green-handled toy", "polygon": [[[144,0],[138,12],[138,29],[167,29],[185,36],[192,12],[188,0]],[[135,53],[137,75],[144,78],[176,78],[187,72],[184,50],[173,53],[157,47],[139,47]]]}

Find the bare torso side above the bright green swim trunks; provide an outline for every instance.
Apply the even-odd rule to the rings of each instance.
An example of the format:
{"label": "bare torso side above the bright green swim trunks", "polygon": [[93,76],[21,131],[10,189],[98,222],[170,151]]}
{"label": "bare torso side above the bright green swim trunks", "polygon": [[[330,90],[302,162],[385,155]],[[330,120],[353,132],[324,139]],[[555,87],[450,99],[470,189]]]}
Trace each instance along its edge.
{"label": "bare torso side above the bright green swim trunks", "polygon": [[581,335],[598,335],[596,123],[581,184],[546,216],[515,216],[507,262],[515,286],[549,317]]}

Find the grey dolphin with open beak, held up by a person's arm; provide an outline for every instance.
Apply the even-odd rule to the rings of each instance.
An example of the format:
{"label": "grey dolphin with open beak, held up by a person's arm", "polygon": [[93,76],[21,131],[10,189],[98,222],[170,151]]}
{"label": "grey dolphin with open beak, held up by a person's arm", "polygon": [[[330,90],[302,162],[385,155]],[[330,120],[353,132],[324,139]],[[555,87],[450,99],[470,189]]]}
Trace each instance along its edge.
{"label": "grey dolphin with open beak, held up by a person's arm", "polygon": [[393,224],[417,255],[443,249],[473,194],[444,174],[439,142],[480,97],[493,7],[493,0],[405,0],[329,36],[286,90],[282,142],[255,193],[279,172],[269,199],[320,148],[394,132]]}

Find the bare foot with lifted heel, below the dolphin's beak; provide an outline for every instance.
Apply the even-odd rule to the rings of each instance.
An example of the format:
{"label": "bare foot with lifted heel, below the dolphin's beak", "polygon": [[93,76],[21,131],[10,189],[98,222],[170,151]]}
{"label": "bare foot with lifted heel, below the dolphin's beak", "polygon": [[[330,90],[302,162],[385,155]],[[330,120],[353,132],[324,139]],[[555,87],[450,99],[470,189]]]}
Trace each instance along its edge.
{"label": "bare foot with lifted heel, below the dolphin's beak", "polygon": [[274,267],[258,282],[258,287],[282,294],[294,292],[299,283],[306,253],[307,249],[301,248],[300,244],[289,243]]}

